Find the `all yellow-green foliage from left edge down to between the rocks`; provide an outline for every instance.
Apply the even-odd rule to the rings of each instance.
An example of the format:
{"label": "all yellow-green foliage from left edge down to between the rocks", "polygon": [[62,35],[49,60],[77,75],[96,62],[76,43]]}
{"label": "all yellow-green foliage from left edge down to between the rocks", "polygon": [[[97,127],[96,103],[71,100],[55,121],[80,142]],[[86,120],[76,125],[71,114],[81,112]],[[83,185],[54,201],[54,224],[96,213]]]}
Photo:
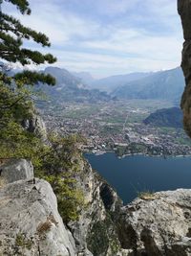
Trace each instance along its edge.
{"label": "all yellow-green foliage from left edge down to between the rocks", "polygon": [[83,194],[76,188],[74,175],[80,168],[81,152],[77,144],[83,138],[73,135],[62,138],[49,136],[49,145],[21,126],[24,118],[32,116],[30,91],[11,88],[0,81],[0,158],[32,160],[36,176],[45,178],[53,186],[58,210],[64,221],[78,217],[83,206]]}

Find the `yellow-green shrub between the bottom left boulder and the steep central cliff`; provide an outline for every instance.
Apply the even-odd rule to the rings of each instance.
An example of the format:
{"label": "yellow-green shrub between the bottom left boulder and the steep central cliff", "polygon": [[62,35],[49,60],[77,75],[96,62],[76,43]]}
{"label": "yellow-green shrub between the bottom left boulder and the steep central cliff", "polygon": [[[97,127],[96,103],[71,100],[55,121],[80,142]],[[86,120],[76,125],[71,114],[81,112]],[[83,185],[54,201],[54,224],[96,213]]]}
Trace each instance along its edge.
{"label": "yellow-green shrub between the bottom left boulder and the steep central cliff", "polygon": [[36,173],[52,185],[63,221],[75,221],[84,205],[83,193],[76,187],[75,179],[81,154],[76,148],[74,136],[52,136],[50,141],[52,147],[36,168]]}

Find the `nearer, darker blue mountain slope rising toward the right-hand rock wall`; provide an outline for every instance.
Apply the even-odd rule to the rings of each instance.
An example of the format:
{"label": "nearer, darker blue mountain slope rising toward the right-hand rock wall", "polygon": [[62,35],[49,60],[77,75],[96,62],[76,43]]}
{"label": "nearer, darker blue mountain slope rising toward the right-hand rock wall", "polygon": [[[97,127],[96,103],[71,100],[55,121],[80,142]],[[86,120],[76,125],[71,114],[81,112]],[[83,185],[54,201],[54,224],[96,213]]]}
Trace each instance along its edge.
{"label": "nearer, darker blue mountain slope rising toward the right-hand rock wall", "polygon": [[138,81],[131,81],[113,91],[119,99],[161,99],[180,101],[184,87],[179,68],[161,71]]}

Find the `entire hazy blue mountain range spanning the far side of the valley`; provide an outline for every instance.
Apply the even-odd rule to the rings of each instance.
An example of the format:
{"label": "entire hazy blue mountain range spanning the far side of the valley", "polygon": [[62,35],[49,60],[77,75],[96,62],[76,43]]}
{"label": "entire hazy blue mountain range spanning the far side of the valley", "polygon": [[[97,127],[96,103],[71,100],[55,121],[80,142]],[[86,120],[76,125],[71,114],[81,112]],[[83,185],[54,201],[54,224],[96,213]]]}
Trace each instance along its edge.
{"label": "entire hazy blue mountain range spanning the far side of the valley", "polygon": [[37,88],[61,102],[108,102],[112,99],[167,100],[180,104],[184,79],[180,67],[148,73],[131,73],[95,80],[88,72],[69,72],[58,67],[47,67],[45,74],[56,79],[55,86],[37,85]]}

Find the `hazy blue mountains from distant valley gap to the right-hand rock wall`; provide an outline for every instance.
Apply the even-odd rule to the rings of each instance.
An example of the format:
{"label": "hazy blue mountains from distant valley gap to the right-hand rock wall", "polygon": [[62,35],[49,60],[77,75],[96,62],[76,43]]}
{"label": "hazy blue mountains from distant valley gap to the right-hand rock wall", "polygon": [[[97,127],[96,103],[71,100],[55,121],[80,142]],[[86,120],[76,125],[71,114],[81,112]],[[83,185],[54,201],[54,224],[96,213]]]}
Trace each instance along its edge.
{"label": "hazy blue mountains from distant valley gap to the right-hand rock wall", "polygon": [[87,88],[105,91],[117,99],[167,100],[180,103],[184,78],[180,67],[149,73],[131,73],[94,80],[89,73],[77,73]]}

